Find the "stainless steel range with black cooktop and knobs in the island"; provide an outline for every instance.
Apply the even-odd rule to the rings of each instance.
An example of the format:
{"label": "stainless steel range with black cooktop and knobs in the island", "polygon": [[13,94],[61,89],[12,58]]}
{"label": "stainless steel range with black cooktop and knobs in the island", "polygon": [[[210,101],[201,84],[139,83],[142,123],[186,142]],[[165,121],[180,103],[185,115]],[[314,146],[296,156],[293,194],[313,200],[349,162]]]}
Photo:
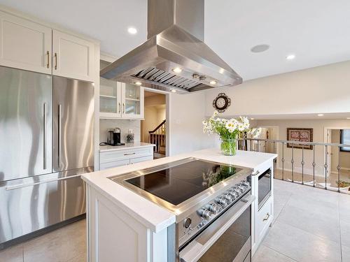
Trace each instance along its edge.
{"label": "stainless steel range with black cooktop and knobs in the island", "polygon": [[249,168],[188,158],[111,180],[176,214],[168,262],[251,261]]}

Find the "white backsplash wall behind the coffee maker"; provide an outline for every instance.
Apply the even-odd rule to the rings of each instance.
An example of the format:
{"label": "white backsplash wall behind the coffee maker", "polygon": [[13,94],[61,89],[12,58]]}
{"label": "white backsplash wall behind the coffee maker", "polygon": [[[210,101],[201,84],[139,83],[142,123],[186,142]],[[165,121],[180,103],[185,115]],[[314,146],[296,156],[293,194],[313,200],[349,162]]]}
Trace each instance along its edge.
{"label": "white backsplash wall behind the coffee maker", "polygon": [[125,142],[129,129],[134,132],[134,141],[139,142],[141,140],[141,121],[140,120],[127,120],[127,119],[99,119],[99,142],[106,142],[107,130],[116,127],[120,128],[121,142]]}

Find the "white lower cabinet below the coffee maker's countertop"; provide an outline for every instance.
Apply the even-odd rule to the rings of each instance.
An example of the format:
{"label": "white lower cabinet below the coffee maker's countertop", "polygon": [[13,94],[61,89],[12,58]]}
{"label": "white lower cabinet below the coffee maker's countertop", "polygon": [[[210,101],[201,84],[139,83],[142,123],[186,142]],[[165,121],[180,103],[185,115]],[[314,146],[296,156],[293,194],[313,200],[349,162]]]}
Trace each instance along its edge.
{"label": "white lower cabinet below the coffee maker's countertop", "polygon": [[99,169],[116,168],[153,159],[153,146],[99,153]]}

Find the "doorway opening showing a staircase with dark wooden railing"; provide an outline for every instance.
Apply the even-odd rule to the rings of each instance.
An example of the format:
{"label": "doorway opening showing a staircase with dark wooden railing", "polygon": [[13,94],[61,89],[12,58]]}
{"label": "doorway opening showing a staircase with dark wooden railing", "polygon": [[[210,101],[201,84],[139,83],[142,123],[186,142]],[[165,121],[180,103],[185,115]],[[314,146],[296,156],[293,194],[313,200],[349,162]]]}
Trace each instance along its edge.
{"label": "doorway opening showing a staircase with dark wooden railing", "polygon": [[153,158],[159,159],[167,155],[167,94],[145,89],[144,97],[141,142],[154,144]]}

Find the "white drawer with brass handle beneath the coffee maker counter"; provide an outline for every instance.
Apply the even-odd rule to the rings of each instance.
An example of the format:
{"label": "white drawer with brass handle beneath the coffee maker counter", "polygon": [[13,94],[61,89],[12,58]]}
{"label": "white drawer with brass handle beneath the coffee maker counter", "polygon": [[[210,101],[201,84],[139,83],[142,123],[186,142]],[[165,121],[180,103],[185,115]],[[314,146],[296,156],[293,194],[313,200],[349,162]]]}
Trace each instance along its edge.
{"label": "white drawer with brass handle beneath the coffee maker counter", "polygon": [[139,157],[153,156],[153,147],[141,147],[127,150],[117,150],[112,152],[100,152],[101,163],[119,161],[123,159],[134,159]]}

